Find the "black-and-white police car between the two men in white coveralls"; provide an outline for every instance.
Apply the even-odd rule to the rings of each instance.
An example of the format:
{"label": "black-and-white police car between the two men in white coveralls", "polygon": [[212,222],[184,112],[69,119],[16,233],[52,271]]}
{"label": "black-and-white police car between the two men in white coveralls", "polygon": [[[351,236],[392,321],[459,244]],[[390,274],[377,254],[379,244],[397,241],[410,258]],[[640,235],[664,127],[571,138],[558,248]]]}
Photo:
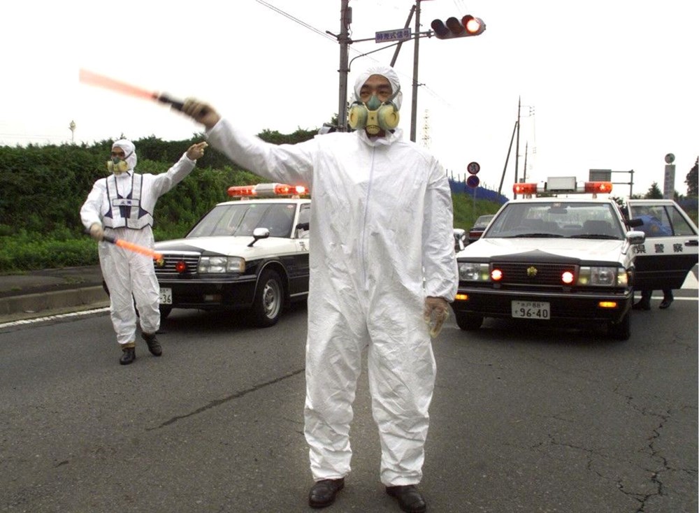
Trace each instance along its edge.
{"label": "black-and-white police car between the two men in white coveralls", "polygon": [[161,317],[173,308],[247,310],[276,324],[284,305],[308,296],[310,198],[303,187],[230,187],[185,238],[155,244]]}

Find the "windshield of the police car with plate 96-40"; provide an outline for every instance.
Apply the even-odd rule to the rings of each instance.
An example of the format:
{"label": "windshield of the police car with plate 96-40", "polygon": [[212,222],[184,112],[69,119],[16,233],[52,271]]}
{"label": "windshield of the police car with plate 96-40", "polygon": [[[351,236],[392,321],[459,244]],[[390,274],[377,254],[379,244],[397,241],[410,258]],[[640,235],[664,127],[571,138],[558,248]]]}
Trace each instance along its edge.
{"label": "windshield of the police car with plate 96-40", "polygon": [[624,227],[609,203],[508,203],[484,238],[623,239]]}

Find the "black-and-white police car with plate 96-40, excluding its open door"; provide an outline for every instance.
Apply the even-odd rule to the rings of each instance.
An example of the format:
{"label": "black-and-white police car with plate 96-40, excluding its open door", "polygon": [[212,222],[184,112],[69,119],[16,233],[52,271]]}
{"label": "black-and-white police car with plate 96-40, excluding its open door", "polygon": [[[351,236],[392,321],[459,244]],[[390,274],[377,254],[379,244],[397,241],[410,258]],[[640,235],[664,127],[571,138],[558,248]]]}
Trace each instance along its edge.
{"label": "black-and-white police car with plate 96-40, excluding its open door", "polygon": [[617,203],[598,197],[611,190],[611,182],[574,177],[514,185],[521,198],[505,203],[481,238],[456,255],[456,324],[475,330],[485,317],[562,321],[628,339],[644,233],[628,230]]}

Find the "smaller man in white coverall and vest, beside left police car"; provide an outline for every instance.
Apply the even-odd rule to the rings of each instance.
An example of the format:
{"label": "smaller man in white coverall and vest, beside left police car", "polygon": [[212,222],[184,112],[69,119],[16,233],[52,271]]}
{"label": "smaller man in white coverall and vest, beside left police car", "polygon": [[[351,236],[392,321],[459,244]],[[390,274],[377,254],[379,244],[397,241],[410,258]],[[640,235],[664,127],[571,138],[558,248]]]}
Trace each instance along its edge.
{"label": "smaller man in white coverall and vest, beside left police car", "polygon": [[154,247],[153,210],[157,199],[192,172],[207,143],[189,147],[177,164],[159,175],[135,173],[136,147],[130,140],[117,140],[107,162],[110,175],[97,180],[80,208],[80,219],[99,243],[102,277],[109,289],[110,315],[117,342],[122,348],[119,363],[136,359],[136,308],[148,350],[161,356],[155,333],[160,328],[160,287],[153,259],[106,243],[103,236]]}

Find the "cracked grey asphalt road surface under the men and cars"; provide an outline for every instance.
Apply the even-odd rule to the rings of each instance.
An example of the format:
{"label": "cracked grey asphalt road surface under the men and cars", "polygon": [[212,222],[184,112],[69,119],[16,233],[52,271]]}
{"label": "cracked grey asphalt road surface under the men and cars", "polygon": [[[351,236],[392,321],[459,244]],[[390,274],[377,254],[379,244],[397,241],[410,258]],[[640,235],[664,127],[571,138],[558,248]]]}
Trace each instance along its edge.
{"label": "cracked grey asphalt road surface under the men and cars", "polygon": [[[698,305],[626,342],[450,319],[421,489],[430,512],[698,510]],[[175,310],[164,356],[120,356],[106,312],[0,326],[0,512],[306,512],[305,306],[256,330]],[[398,512],[362,375],[352,474],[329,512]]]}

